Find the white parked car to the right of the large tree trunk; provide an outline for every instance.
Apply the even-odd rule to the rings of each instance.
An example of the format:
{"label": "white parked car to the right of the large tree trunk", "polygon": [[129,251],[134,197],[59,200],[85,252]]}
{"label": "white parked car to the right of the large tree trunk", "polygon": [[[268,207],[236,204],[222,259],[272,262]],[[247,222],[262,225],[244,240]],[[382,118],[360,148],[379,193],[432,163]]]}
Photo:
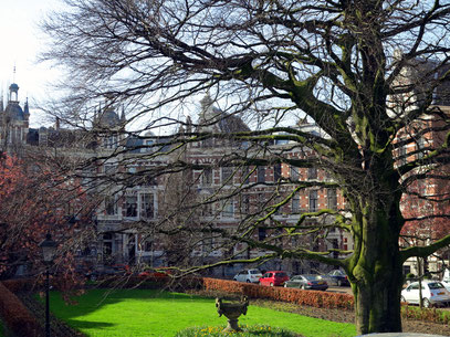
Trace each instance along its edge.
{"label": "white parked car to the right of the large tree trunk", "polygon": [[[412,282],[401,291],[401,302],[419,304],[419,282]],[[423,306],[446,306],[450,304],[450,292],[438,281],[422,281]]]}

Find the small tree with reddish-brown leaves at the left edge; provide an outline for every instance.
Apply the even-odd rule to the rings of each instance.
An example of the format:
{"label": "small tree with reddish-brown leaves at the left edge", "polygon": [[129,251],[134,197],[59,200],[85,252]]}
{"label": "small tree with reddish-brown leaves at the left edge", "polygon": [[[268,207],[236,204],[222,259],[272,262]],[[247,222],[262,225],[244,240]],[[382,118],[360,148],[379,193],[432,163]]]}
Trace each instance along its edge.
{"label": "small tree with reddish-brown leaves at the left edge", "polygon": [[[88,236],[90,219],[80,209],[87,204],[76,188],[59,185],[60,179],[41,168],[10,156],[0,160],[0,280],[20,266],[28,275],[42,272],[39,243],[51,233],[59,243],[54,285],[69,289],[83,281],[75,273],[74,251]],[[69,221],[75,215],[69,209],[77,209],[80,223]]]}

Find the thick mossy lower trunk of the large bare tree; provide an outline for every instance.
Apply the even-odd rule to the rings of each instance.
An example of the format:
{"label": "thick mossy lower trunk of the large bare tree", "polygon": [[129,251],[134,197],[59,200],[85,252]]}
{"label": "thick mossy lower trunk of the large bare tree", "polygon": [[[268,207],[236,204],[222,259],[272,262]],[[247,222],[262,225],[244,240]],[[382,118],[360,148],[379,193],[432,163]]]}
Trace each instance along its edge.
{"label": "thick mossy lower trunk of the large bare tree", "polygon": [[378,200],[359,202],[349,265],[358,334],[401,331],[398,238],[402,218],[396,198],[379,200],[378,196]]}

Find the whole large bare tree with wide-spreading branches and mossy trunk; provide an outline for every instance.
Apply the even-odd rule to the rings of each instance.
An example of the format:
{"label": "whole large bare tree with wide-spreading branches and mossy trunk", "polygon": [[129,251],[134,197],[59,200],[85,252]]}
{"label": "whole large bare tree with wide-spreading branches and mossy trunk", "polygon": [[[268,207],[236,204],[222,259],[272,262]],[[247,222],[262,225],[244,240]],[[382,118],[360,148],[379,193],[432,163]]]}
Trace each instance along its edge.
{"label": "whole large bare tree with wide-spreading branches and mossy trunk", "polygon": [[[123,131],[129,136],[149,139],[145,131],[161,127],[174,134],[160,138],[164,146],[140,147],[151,149],[146,158],[170,154],[177,160],[142,171],[140,177],[117,175],[116,182],[126,186],[126,179],[184,170],[201,170],[206,176],[212,164],[188,160],[184,148],[208,139],[245,145],[230,147],[214,162],[233,168],[231,177],[241,175],[243,167],[257,170],[276,164],[325,170],[331,180],[274,181],[278,191],[283,186],[295,188],[274,193],[258,211],[243,211],[232,233],[212,225],[202,231],[269,251],[264,259],[312,259],[342,266],[355,294],[358,333],[401,330],[402,263],[450,243],[447,235],[427,246],[399,246],[408,220],[400,200],[408,193],[422,193],[410,186],[418,179],[436,183],[449,179],[448,1],[65,2],[67,11],[53,13],[42,23],[53,41],[43,60],[53,60],[70,74],[62,84],[69,95],[52,112],[72,126],[106,134],[96,120],[98,103],[108,97],[111,104],[124,105],[127,118],[123,120],[128,126],[123,125]],[[193,101],[205,93],[220,105],[221,113],[203,114],[196,124],[180,118],[192,112]],[[210,105],[202,102],[205,110]],[[234,123],[214,128],[219,119]],[[302,129],[301,120],[314,123],[320,131]],[[436,136],[433,141],[428,141],[429,135]],[[274,150],[270,146],[274,141],[286,141],[286,148]],[[170,150],[164,150],[167,145]],[[415,150],[402,152],[405,147]],[[293,157],[292,151],[303,155]],[[114,155],[124,152],[129,155],[129,149]],[[187,187],[195,185],[192,178],[185,177],[185,181]],[[239,199],[248,190],[244,183],[228,190],[223,186],[202,202],[186,198],[191,191],[182,198],[181,191],[177,197],[186,207],[181,218],[193,221],[196,209]],[[252,236],[297,190],[314,186],[337,187],[345,208],[306,212],[290,225],[272,221],[269,228],[279,235],[269,241]],[[448,190],[432,198],[448,202]],[[354,251],[346,259],[302,245],[283,248],[276,240],[311,233],[314,230],[305,219],[331,215],[334,221],[317,221],[316,231],[349,232]],[[427,217],[448,221],[449,213]],[[184,225],[192,230],[188,220],[178,221],[166,231],[180,233]]]}

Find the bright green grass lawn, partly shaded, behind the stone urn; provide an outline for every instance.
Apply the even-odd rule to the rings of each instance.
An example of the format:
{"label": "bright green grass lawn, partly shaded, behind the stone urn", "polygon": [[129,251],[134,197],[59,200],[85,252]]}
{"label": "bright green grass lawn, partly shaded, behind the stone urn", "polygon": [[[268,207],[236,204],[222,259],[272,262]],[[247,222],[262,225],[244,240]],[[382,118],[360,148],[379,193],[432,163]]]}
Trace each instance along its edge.
{"label": "bright green grass lawn, partly shaded, behind the stone urn", "polygon": [[[92,289],[66,305],[59,293],[51,294],[52,313],[87,336],[174,336],[192,326],[226,325],[219,318],[214,301],[179,293],[146,289]],[[239,319],[243,325],[270,325],[311,337],[355,336],[352,324],[250,307]]]}

